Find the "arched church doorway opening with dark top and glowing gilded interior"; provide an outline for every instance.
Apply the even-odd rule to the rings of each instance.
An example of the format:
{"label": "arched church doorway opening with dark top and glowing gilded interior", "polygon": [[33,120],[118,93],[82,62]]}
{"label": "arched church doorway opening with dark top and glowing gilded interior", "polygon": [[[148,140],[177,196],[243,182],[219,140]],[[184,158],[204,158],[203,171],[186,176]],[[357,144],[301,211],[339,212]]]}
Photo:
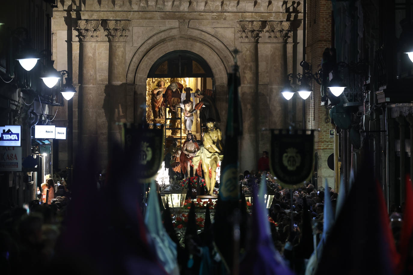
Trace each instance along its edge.
{"label": "arched church doorway opening with dark top and glowing gilded interior", "polygon": [[[187,103],[187,106],[181,105],[176,112],[171,111],[171,104],[166,94],[162,92],[165,88],[159,90],[159,85],[167,87],[173,82],[182,85],[180,102]],[[168,52],[152,65],[146,83],[146,121],[150,127],[165,125],[166,148],[172,145],[173,141],[176,141],[180,147],[188,132],[192,133],[195,139],[200,140],[202,123],[205,121],[199,119],[199,112],[191,114],[190,119],[185,117],[184,113],[185,108],[193,110],[199,102],[199,99],[195,97],[198,89],[211,96],[214,103],[216,101],[214,75],[208,63],[201,56],[190,51]]]}

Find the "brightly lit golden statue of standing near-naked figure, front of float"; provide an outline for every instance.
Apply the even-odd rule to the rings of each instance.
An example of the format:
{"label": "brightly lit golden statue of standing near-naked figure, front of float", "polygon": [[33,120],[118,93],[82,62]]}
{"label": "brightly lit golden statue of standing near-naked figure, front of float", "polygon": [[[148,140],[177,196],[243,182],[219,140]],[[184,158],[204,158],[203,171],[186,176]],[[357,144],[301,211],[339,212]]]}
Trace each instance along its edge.
{"label": "brightly lit golden statue of standing near-naked figure, front of float", "polygon": [[[216,167],[220,161],[220,154],[223,149],[221,130],[215,126],[213,119],[209,118],[206,123],[207,129],[202,138],[203,145],[192,159],[192,165],[197,167],[199,161],[202,161],[202,169],[204,170],[204,179],[207,186],[207,195],[214,195],[214,187],[216,182]],[[209,176],[209,168],[211,168],[211,177]]]}

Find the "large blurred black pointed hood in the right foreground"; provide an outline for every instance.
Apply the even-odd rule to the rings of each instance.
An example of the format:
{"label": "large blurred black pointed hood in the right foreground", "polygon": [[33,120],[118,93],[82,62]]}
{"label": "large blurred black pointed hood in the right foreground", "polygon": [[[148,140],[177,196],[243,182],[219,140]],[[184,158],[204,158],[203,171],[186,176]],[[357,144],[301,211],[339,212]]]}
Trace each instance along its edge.
{"label": "large blurred black pointed hood in the right foreground", "polygon": [[[367,148],[367,146],[365,147]],[[363,154],[369,156],[368,152]],[[317,274],[394,274],[394,240],[366,157],[327,238]],[[369,190],[366,193],[366,190]]]}

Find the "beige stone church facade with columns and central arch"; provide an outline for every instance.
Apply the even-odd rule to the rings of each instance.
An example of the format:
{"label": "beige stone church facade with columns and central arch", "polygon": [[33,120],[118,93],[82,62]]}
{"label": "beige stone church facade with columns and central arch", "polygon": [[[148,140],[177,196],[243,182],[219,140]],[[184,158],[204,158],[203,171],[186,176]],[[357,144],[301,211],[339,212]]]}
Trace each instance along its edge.
{"label": "beige stone church facade with columns and central arch", "polygon": [[[301,8],[300,2],[281,0],[57,1],[53,60],[58,71],[71,72],[78,91],[64,107],[67,112],[57,117],[68,121],[68,143],[59,146],[59,166],[64,169],[71,163],[77,150],[95,146],[104,169],[112,157],[111,145],[121,141],[121,123],[149,122],[147,79],[154,64],[171,52],[190,52],[212,73],[211,88],[221,117],[218,127],[223,132],[227,74],[236,57],[244,125],[240,170],[256,169],[261,153],[271,146],[269,129],[318,127],[309,123],[313,96],[304,106],[309,114],[305,122],[301,99],[287,101],[280,94],[287,74],[301,70]],[[240,52],[236,56],[235,48]],[[330,154],[330,147],[323,149]],[[333,181],[332,171],[324,174]]]}

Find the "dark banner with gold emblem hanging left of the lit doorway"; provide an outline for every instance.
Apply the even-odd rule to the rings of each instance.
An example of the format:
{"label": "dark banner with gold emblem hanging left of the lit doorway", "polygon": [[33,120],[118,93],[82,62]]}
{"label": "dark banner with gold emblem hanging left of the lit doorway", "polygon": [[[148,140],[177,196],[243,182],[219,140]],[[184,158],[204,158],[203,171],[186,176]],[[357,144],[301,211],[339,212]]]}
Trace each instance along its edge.
{"label": "dark banner with gold emblem hanging left of the lit doorway", "polygon": [[133,173],[140,183],[148,183],[156,176],[164,154],[164,130],[146,126],[124,128],[125,153],[131,162]]}

